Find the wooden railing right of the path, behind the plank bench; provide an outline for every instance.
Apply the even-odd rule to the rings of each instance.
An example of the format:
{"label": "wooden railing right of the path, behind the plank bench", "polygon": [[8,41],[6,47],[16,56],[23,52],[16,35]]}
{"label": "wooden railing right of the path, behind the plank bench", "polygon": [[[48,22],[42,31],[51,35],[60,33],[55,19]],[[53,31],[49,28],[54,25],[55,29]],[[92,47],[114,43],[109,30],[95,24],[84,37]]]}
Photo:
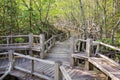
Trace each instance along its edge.
{"label": "wooden railing right of the path, behind the plank bench", "polygon": [[120,51],[120,48],[118,47],[103,42],[93,41],[92,39],[87,39],[87,40],[77,39],[73,43],[74,43],[73,53],[86,52],[87,54],[90,53],[90,54],[94,54],[95,56],[96,54],[100,53],[100,47],[110,48],[115,51]]}

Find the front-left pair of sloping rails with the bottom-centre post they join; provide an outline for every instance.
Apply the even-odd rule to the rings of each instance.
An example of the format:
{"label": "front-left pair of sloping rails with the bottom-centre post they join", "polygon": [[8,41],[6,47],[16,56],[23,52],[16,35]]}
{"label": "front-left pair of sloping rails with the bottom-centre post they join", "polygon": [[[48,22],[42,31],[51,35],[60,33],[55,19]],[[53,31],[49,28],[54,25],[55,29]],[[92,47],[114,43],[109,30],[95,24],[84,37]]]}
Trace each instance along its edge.
{"label": "front-left pair of sloping rails with the bottom-centre post they join", "polygon": [[[60,75],[59,75],[59,65],[60,65],[60,63],[59,62],[42,60],[42,59],[34,58],[34,57],[31,57],[31,56],[28,56],[28,55],[19,54],[19,53],[14,53],[14,55],[17,55],[17,56],[20,56],[22,58],[26,58],[26,59],[29,59],[29,60],[33,61],[33,63],[30,63],[30,64],[32,64],[31,70],[28,70],[26,68],[20,67],[19,65],[14,66],[15,69],[18,69],[18,70],[21,70],[21,71],[33,74],[35,76],[38,76],[38,77],[41,77],[41,78],[44,78],[44,79],[47,79],[47,80],[58,80],[59,79],[59,77],[60,77]],[[47,75],[44,75],[41,72],[35,71],[34,61],[37,61],[37,62],[40,62],[40,63],[44,63],[44,64],[46,63],[48,65],[52,65],[51,68],[54,69],[53,70],[53,72],[54,72],[54,78],[50,77],[50,76],[47,76]]]}

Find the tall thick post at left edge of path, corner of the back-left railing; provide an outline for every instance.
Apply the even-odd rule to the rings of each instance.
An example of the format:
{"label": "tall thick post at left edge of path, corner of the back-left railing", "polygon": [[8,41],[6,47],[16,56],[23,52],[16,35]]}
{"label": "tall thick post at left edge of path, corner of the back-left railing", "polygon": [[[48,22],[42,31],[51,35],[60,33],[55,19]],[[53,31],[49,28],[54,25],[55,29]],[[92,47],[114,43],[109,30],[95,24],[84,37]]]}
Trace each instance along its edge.
{"label": "tall thick post at left edge of path, corner of the back-left railing", "polygon": [[40,34],[39,36],[39,39],[40,39],[40,58],[43,59],[45,57],[45,45],[44,45],[44,42],[45,42],[45,36],[44,34]]}

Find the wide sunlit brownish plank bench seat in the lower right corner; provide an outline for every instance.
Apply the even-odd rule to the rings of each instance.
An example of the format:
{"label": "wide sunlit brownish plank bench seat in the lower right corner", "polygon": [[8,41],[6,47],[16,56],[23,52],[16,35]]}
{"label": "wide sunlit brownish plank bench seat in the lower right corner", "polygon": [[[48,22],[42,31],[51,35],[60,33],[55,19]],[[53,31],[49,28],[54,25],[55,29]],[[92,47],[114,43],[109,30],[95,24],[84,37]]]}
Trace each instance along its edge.
{"label": "wide sunlit brownish plank bench seat in the lower right corner", "polygon": [[105,58],[91,57],[88,61],[108,75],[112,80],[120,80],[120,66],[116,66]]}

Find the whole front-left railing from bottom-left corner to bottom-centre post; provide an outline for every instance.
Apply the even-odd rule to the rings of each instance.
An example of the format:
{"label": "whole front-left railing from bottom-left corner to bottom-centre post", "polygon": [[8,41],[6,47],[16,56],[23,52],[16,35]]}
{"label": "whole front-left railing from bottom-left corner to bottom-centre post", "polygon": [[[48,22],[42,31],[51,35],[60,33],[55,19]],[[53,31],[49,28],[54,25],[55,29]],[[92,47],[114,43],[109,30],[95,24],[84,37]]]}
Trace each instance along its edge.
{"label": "whole front-left railing from bottom-left corner to bottom-centre post", "polygon": [[[35,57],[31,57],[29,55],[15,53],[14,50],[9,50],[9,52],[6,52],[5,55],[6,54],[9,54],[8,57],[9,57],[10,65],[8,71],[6,71],[4,75],[0,77],[0,80],[3,79],[6,75],[10,73],[11,70],[14,69],[47,80],[61,80],[61,74],[59,70],[59,67],[61,66],[61,62],[38,59]],[[52,72],[52,74],[50,74],[49,71]]]}

